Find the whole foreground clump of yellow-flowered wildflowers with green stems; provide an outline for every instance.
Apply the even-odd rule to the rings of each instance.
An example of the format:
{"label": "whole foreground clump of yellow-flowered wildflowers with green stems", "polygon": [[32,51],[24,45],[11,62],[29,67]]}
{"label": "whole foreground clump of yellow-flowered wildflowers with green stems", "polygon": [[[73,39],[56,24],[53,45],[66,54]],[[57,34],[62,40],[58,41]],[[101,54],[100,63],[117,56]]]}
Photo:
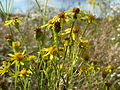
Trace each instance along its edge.
{"label": "whole foreground clump of yellow-flowered wildflowers with green stems", "polygon": [[[44,25],[33,30],[38,48],[32,54],[27,48],[24,32],[20,29],[22,19],[23,17],[13,17],[4,24],[13,25],[21,37],[16,40],[13,33],[6,35],[13,52],[8,54],[0,67],[1,76],[8,73],[14,78],[15,90],[31,90],[32,84],[36,90],[67,90],[83,85],[92,90],[94,82],[97,83],[97,88],[111,88],[112,85],[105,78],[114,72],[115,67],[99,65],[97,59],[91,58],[92,45],[88,40],[91,33],[88,33],[88,27],[91,24],[97,25],[94,15],[73,8],[58,13],[47,23],[44,17]],[[81,28],[80,23],[85,24],[85,27]],[[49,44],[46,44],[47,41]],[[100,84],[100,79],[94,78],[97,75],[103,79]]]}

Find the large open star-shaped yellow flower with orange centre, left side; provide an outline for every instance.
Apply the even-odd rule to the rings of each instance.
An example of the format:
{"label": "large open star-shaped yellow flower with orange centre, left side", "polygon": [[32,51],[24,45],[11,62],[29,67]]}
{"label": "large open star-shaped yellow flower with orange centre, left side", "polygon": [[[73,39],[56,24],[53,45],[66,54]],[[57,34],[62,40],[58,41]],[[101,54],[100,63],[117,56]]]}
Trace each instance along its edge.
{"label": "large open star-shaped yellow flower with orange centre, left side", "polygon": [[14,60],[14,62],[12,64],[14,64],[16,61],[19,62],[21,65],[24,65],[23,60],[25,60],[25,54],[20,53],[20,52],[16,52],[14,54],[8,54],[11,58],[11,60]]}

